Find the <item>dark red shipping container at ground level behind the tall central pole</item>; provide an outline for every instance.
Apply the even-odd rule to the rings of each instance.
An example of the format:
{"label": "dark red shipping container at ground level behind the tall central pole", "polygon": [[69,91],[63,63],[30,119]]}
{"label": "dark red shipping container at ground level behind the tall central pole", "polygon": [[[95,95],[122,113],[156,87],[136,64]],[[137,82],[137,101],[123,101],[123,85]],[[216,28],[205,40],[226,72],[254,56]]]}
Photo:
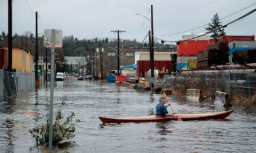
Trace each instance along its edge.
{"label": "dark red shipping container at ground level behind the tall central pole", "polygon": [[[172,71],[172,61],[154,61],[154,68],[162,71],[162,67]],[[150,61],[137,61],[137,72],[141,73],[142,77],[145,77],[144,73],[150,70]]]}

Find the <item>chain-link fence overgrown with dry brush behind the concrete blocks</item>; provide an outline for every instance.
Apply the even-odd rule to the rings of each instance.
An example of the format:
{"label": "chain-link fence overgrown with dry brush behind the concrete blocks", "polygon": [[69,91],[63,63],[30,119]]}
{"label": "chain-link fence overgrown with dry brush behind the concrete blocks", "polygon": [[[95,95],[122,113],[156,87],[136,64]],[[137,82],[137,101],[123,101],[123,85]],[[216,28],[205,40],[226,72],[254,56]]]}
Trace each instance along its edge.
{"label": "chain-link fence overgrown with dry brush behind the concrete blocks", "polygon": [[231,99],[256,99],[256,70],[223,71],[183,71],[165,75],[161,86],[170,86],[173,90],[185,93],[188,88],[203,91],[203,95],[212,96],[216,91],[227,92]]}

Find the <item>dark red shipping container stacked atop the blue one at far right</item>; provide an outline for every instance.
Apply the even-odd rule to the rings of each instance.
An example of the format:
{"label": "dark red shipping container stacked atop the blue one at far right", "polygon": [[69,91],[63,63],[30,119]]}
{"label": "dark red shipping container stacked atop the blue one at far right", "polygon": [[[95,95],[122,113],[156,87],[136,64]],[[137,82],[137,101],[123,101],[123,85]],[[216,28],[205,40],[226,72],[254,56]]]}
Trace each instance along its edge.
{"label": "dark red shipping container stacked atop the blue one at far right", "polygon": [[231,41],[255,41],[254,35],[221,35],[218,37],[219,42],[227,43]]}

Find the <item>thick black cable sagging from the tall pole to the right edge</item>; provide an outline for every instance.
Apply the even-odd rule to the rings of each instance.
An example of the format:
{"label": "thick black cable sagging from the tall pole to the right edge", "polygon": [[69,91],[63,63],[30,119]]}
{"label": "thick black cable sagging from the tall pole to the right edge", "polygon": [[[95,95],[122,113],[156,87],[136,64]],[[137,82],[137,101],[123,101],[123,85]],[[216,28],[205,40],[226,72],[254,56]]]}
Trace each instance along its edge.
{"label": "thick black cable sagging from the tall pole to the right edge", "polygon": [[[223,26],[221,26],[221,27],[219,27],[219,28],[216,28],[216,29],[214,29],[214,30],[212,30],[212,31],[209,31],[208,33],[205,33],[205,34],[203,34],[203,35],[207,35],[207,34],[212,33],[213,31],[216,31],[216,30],[218,30],[218,29],[225,28],[225,27],[227,27],[229,24],[232,24],[233,22],[236,22],[236,21],[238,21],[238,20],[241,20],[242,18],[245,18],[246,16],[248,16],[248,15],[250,15],[250,14],[253,14],[253,12],[256,12],[256,9],[252,10],[251,12],[248,12],[248,13],[244,14],[244,16],[240,16],[240,17],[237,18],[236,20],[233,20],[233,21],[231,21],[231,22],[229,22],[229,23],[227,23],[227,24],[225,24],[225,25],[223,25]],[[197,36],[197,37],[201,37],[201,36],[203,36],[203,35],[199,35],[199,36]],[[154,37],[154,38],[156,38],[156,39],[159,39],[159,40],[161,40],[161,41],[172,42],[172,43],[173,43],[173,42],[177,42],[177,41],[168,41],[168,40],[160,39],[160,38],[158,38],[158,37],[155,37],[154,35],[152,35],[152,37]],[[197,37],[192,37],[192,38],[190,38],[190,39],[195,39],[195,38],[197,38]],[[183,41],[190,40],[190,39],[185,39],[185,40],[183,40]]]}

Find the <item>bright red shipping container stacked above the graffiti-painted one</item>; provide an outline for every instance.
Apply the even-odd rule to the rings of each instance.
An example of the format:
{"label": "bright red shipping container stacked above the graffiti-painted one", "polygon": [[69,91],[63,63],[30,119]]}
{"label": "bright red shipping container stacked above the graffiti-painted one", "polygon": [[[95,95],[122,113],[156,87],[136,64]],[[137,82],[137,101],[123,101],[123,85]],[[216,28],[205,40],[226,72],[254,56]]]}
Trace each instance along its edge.
{"label": "bright red shipping container stacked above the graffiti-painted one", "polygon": [[187,40],[180,41],[177,45],[177,56],[197,56],[197,52],[205,50],[205,46],[215,44],[212,40]]}

